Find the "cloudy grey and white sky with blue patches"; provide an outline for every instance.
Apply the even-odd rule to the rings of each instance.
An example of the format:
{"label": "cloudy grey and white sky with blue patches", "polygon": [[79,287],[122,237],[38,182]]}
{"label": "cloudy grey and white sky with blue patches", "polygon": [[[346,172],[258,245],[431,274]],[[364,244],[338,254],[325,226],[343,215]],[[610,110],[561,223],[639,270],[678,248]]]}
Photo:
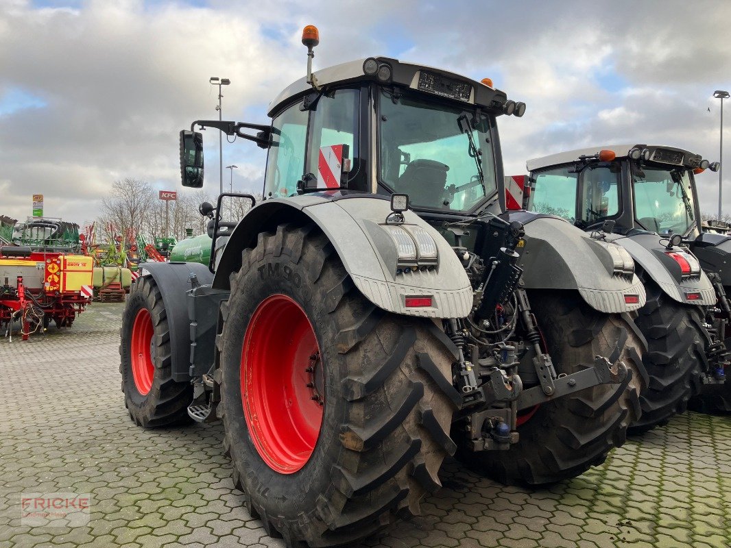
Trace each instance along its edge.
{"label": "cloudy grey and white sky with blue patches", "polygon": [[[507,174],[612,142],[719,159],[712,95],[731,88],[729,0],[0,0],[0,214],[25,218],[42,193],[47,216],[83,224],[126,177],[180,191],[178,131],[217,116],[208,78],[231,80],[224,118],[266,123],[270,99],[305,71],[306,24],[320,31],[315,69],[392,56],[492,77],[525,101],[523,118],[500,119]],[[206,135],[215,192],[218,139]],[[260,189],[264,163],[253,143],[224,140],[235,187]],[[715,211],[718,174],[698,182]]]}

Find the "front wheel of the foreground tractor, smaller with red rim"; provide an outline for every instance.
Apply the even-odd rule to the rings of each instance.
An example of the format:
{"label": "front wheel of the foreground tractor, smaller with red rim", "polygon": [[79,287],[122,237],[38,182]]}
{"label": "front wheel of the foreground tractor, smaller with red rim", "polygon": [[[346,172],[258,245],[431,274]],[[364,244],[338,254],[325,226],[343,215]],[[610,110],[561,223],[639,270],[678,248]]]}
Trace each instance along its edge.
{"label": "front wheel of the foreground tractor, smaller with red rim", "polygon": [[187,409],[193,399],[192,385],[173,381],[170,327],[162,295],[151,276],[132,285],[120,335],[119,372],[132,420],[143,427],[191,422]]}

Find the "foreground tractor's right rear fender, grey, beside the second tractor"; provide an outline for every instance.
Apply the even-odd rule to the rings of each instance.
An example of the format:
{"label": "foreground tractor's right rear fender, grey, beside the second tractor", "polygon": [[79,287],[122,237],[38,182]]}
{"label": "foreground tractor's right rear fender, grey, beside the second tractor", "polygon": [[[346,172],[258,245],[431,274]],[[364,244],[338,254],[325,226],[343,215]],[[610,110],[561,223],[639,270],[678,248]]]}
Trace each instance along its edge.
{"label": "foreground tractor's right rear fender, grey, beside the second tractor", "polygon": [[607,249],[613,244],[592,240],[559,217],[520,211],[510,213],[510,220],[522,222],[526,230],[520,256],[526,289],[575,289],[588,305],[606,313],[645,305],[645,288],[637,275],[615,273]]}

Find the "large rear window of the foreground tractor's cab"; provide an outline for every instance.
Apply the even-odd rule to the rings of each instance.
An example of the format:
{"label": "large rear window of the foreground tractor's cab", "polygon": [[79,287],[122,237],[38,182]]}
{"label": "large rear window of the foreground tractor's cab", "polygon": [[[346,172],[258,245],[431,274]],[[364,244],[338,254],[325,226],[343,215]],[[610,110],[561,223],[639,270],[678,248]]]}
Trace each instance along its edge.
{"label": "large rear window of the foreground tractor's cab", "polygon": [[379,178],[416,207],[469,211],[496,189],[489,126],[474,111],[382,91]]}

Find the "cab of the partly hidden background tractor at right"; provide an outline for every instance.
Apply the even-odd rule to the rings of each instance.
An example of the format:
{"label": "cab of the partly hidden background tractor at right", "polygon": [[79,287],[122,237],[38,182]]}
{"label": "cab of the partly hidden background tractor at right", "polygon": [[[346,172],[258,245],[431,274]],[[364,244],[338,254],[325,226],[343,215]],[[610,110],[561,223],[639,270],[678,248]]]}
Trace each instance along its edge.
{"label": "cab of the partly hidden background tractor at right", "polygon": [[700,235],[694,174],[711,164],[678,148],[615,145],[529,160],[526,208],[561,216],[582,229],[614,221],[613,231]]}

